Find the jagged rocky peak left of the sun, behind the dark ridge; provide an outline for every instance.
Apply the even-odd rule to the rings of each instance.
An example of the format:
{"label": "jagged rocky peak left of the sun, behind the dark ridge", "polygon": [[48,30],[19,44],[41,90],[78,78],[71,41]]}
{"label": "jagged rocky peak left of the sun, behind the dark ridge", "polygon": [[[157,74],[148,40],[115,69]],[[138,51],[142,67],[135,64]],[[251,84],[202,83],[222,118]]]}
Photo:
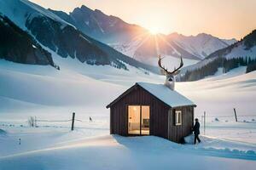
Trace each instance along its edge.
{"label": "jagged rocky peak left of the sun, behind the dark ridge", "polygon": [[99,9],[92,10],[84,5],[74,8],[70,14],[49,10],[86,35],[105,43],[122,43],[147,31],[141,26],[128,24],[116,16],[103,14]]}

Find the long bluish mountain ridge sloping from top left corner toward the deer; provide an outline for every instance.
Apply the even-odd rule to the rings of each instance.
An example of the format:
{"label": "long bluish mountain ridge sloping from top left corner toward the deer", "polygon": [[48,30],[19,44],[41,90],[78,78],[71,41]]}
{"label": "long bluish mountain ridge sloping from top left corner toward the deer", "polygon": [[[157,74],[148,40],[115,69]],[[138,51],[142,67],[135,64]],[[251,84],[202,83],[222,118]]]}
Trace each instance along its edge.
{"label": "long bluish mountain ridge sloping from top left corner toward the deer", "polygon": [[128,65],[158,71],[98,42],[62,20],[48,9],[27,0],[0,0],[0,12],[22,30],[29,32],[45,48],[63,58],[79,59],[90,65],[112,65],[127,70]]}

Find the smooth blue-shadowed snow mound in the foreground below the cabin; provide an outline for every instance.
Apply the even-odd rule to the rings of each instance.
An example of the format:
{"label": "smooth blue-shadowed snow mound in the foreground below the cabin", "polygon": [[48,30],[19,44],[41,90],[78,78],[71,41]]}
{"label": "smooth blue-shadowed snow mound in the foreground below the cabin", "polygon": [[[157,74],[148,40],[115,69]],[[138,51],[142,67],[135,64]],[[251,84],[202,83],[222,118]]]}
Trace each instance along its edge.
{"label": "smooth blue-shadowed snow mound in the foreground below the cabin", "polygon": [[[218,149],[216,144],[229,145],[230,149]],[[153,136],[104,135],[2,156],[0,169],[254,169],[256,147],[247,151],[232,149],[241,145],[209,138],[202,138],[202,144],[191,145]]]}

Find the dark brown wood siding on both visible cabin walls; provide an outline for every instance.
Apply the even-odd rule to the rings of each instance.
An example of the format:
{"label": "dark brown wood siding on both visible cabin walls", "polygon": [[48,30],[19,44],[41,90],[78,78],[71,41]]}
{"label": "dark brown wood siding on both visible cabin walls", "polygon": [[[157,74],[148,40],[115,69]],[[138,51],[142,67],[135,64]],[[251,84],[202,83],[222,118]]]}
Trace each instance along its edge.
{"label": "dark brown wood siding on both visible cabin walls", "polygon": [[[140,86],[132,87],[110,105],[110,133],[128,135],[128,105],[149,105],[149,133],[179,143],[194,123],[194,106],[171,108]],[[175,125],[175,111],[182,111],[182,125]]]}

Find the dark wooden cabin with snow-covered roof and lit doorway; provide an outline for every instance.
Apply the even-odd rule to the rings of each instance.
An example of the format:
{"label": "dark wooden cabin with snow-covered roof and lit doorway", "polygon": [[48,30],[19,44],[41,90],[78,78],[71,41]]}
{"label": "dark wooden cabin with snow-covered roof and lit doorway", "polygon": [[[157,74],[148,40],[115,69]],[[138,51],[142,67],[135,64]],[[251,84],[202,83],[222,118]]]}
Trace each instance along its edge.
{"label": "dark wooden cabin with snow-covered roof and lit doorway", "polygon": [[137,82],[107,106],[110,133],[154,135],[181,143],[192,133],[195,106],[163,84]]}

